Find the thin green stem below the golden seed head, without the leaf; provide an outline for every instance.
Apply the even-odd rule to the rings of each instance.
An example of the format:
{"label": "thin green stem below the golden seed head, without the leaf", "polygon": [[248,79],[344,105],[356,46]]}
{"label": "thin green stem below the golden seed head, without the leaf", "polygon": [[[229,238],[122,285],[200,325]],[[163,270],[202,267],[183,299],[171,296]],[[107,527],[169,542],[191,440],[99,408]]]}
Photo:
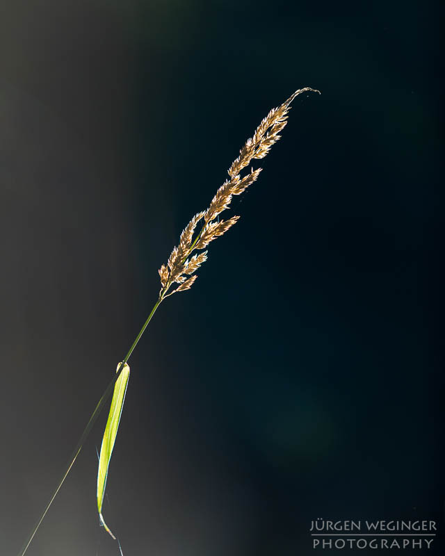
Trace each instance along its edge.
{"label": "thin green stem below the golden seed head, without the leaf", "polygon": [[26,553],[26,550],[28,550],[29,545],[31,544],[31,541],[34,538],[35,533],[37,532],[38,528],[40,527],[40,524],[42,523],[42,521],[44,519],[44,516],[47,515],[49,507],[54,502],[54,498],[56,498],[58,491],[60,491],[60,487],[63,485],[63,482],[67,478],[68,473],[70,473],[71,468],[74,465],[74,461],[76,461],[76,458],[79,455],[79,453],[80,453],[80,451],[83,447],[83,444],[85,443],[86,439],[88,438],[88,435],[91,432],[92,426],[95,424],[97,418],[99,417],[99,414],[102,411],[106,400],[108,400],[108,398],[110,397],[111,392],[113,391],[113,387],[115,385],[115,382],[116,382],[116,380],[118,380],[118,378],[120,376],[120,373],[121,373],[122,369],[124,368],[125,363],[127,363],[131,354],[133,353],[134,348],[136,347],[136,345],[138,345],[138,341],[140,340],[140,337],[145,332],[145,329],[147,328],[148,323],[150,322],[150,320],[152,320],[152,317],[153,317],[156,309],[161,304],[162,300],[163,300],[163,294],[161,293],[161,295],[159,295],[159,299],[157,300],[156,304],[154,304],[154,307],[153,307],[152,311],[150,312],[147,320],[144,322],[143,327],[140,329],[140,332],[139,332],[138,336],[136,336],[135,341],[133,341],[133,344],[131,345],[130,349],[128,350],[127,355],[124,357],[124,360],[122,361],[122,363],[120,363],[120,366],[119,366],[117,372],[115,373],[115,375],[113,376],[113,379],[108,384],[108,386],[106,387],[106,390],[102,394],[102,398],[100,398],[99,402],[97,403],[96,409],[92,412],[92,415],[90,416],[90,420],[88,420],[88,423],[87,423],[85,429],[83,430],[83,433],[81,434],[79,442],[76,444],[76,448],[74,448],[74,450],[72,452],[72,455],[70,457],[70,463],[68,464],[67,469],[66,469],[65,473],[63,474],[62,479],[58,483],[58,486],[57,486],[56,490],[54,491],[51,498],[49,499],[49,502],[47,503],[46,507],[44,508],[44,511],[42,512],[42,515],[38,519],[37,523],[35,523],[31,534],[29,535],[28,539],[26,539],[26,541],[25,541],[24,545],[22,546],[22,549],[20,550],[18,556],[24,556],[24,553]]}

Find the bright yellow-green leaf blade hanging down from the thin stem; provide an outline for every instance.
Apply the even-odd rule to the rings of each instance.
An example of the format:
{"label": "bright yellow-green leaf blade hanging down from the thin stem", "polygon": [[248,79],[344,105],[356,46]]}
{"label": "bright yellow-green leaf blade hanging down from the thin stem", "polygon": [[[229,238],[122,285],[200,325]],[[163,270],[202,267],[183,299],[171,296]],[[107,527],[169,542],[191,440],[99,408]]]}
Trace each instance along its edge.
{"label": "bright yellow-green leaf blade hanging down from the thin stem", "polygon": [[[122,363],[119,363],[116,372],[118,372],[118,370],[120,369],[121,364]],[[106,532],[111,534],[111,537],[113,537],[113,539],[115,539],[115,536],[108,528],[108,525],[106,525],[102,516],[102,504],[104,502],[105,496],[108,466],[110,464],[111,454],[113,453],[116,435],[118,434],[120,416],[122,414],[122,407],[124,406],[125,393],[127,392],[129,376],[130,368],[127,363],[125,363],[118,377],[118,380],[116,380],[115,383],[113,399],[111,400],[108,420],[106,421],[104,436],[102,438],[102,445],[99,455],[99,468],[97,470],[97,510],[99,512],[99,520],[102,525],[104,525],[104,529],[106,530]]]}

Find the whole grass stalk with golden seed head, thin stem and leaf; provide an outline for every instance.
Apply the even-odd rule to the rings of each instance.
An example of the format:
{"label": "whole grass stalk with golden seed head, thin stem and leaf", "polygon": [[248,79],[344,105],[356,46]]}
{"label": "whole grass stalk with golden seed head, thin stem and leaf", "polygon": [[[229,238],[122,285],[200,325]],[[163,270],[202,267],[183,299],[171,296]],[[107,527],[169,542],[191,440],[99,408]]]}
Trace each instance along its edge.
{"label": "whole grass stalk with golden seed head, thin stem and leaf", "polygon": [[[229,208],[230,202],[232,201],[234,195],[241,195],[241,193],[243,193],[248,188],[248,186],[250,186],[254,181],[257,180],[257,178],[259,177],[259,173],[261,172],[261,168],[257,168],[257,170],[251,168],[250,172],[247,172],[244,176],[241,176],[241,172],[243,172],[243,170],[245,170],[245,168],[248,167],[248,165],[250,165],[252,161],[254,161],[255,159],[264,158],[266,154],[268,154],[270,147],[272,147],[272,145],[274,145],[275,142],[277,142],[277,140],[280,139],[281,137],[279,135],[280,131],[282,131],[282,129],[284,129],[284,126],[286,126],[287,124],[287,119],[288,119],[287,114],[291,108],[290,106],[291,102],[302,92],[307,92],[307,91],[319,92],[309,87],[299,89],[296,92],[294,92],[293,95],[289,97],[289,99],[284,101],[283,104],[277,106],[277,108],[273,108],[268,113],[268,115],[261,121],[261,123],[255,130],[252,138],[248,139],[247,142],[245,142],[245,145],[241,148],[239,152],[238,158],[234,160],[232,165],[229,167],[229,170],[227,170],[227,173],[229,174],[229,179],[227,179],[223,183],[223,185],[220,186],[220,188],[217,190],[216,195],[214,195],[213,199],[211,199],[211,203],[209,204],[207,210],[195,214],[195,216],[193,216],[191,221],[187,224],[187,226],[182,231],[181,236],[179,238],[178,246],[175,247],[172,253],[170,254],[168,263],[166,265],[161,265],[161,268],[159,269],[159,276],[161,277],[161,291],[159,291],[158,300],[154,304],[153,309],[149,313],[149,316],[145,321],[143,327],[140,329],[139,334],[136,336],[135,340],[133,341],[133,344],[131,345],[127,355],[124,357],[123,361],[118,366],[118,370],[113,376],[113,379],[108,384],[106,390],[102,394],[102,398],[100,398],[99,402],[97,403],[96,409],[92,412],[92,415],[90,416],[90,420],[88,421],[85,430],[83,430],[83,433],[81,434],[81,438],[79,439],[76,448],[74,448],[74,451],[72,452],[70,462],[67,466],[65,473],[63,474],[63,477],[58,483],[56,490],[52,494],[47,506],[44,508],[42,515],[38,519],[38,522],[35,524],[31,534],[29,535],[28,539],[24,543],[22,550],[20,550],[18,556],[24,556],[26,550],[29,548],[29,545],[31,544],[31,541],[35,536],[35,533],[38,531],[38,528],[40,527],[40,524],[42,523],[44,516],[46,516],[49,507],[51,507],[52,502],[54,502],[54,498],[56,498],[57,493],[60,490],[61,486],[63,485],[63,482],[65,481],[68,473],[70,473],[70,470],[74,465],[77,456],[81,452],[83,444],[88,438],[88,435],[90,434],[90,431],[93,425],[95,424],[97,417],[99,416],[100,412],[104,407],[104,404],[106,403],[109,396],[111,395],[111,392],[113,391],[113,387],[115,386],[116,381],[120,377],[122,369],[126,365],[129,358],[131,357],[131,354],[133,353],[133,350],[136,348],[136,345],[138,345],[138,342],[141,336],[143,335],[143,333],[145,332],[145,329],[147,328],[150,320],[152,320],[152,317],[156,312],[156,309],[158,309],[159,305],[163,302],[163,300],[166,297],[170,297],[170,295],[173,295],[174,293],[180,291],[186,291],[190,289],[191,286],[193,286],[196,279],[195,271],[198,268],[200,268],[202,263],[204,263],[207,260],[207,251],[203,251],[203,250],[207,247],[207,245],[209,245],[209,243],[211,243],[211,241],[215,240],[218,236],[222,236],[223,234],[225,234],[225,232],[230,227],[236,224],[236,221],[239,218],[238,216],[232,216],[232,218],[229,218],[228,220],[220,220],[219,215],[220,213],[225,211],[225,209]],[[198,233],[196,233],[195,230],[197,228],[197,224],[200,222],[202,222],[202,228]],[[196,251],[197,253],[191,256],[191,254],[194,251]],[[170,291],[170,293],[168,293],[170,287],[173,284],[179,284],[179,285],[173,291]],[[122,377],[124,377],[125,379],[128,378],[127,375],[122,375]],[[118,388],[118,386],[116,386],[116,388]],[[108,452],[106,450],[104,451],[105,454],[104,462],[106,464],[106,471],[104,471],[103,475],[100,476],[102,478],[105,477],[105,479],[102,480],[101,483],[103,488],[101,486],[100,498],[98,495],[98,500],[100,502],[99,515],[101,518],[102,518],[102,514],[100,514],[101,512],[100,507],[102,507],[106,474],[108,473],[108,463],[111,458],[111,451],[114,445],[115,434],[117,433],[118,425],[119,425],[120,411],[122,411],[122,405],[124,401],[123,389],[122,389],[122,393],[123,395],[121,395],[120,406],[118,407],[119,411],[116,411],[116,418],[114,418],[114,422],[112,423],[112,425],[114,425],[113,442],[111,444],[108,442],[108,448],[106,448]],[[113,402],[115,402],[116,400],[115,395],[113,396],[112,406],[113,406]],[[111,418],[111,420],[113,420],[113,418]],[[104,433],[104,439],[106,438],[107,434],[110,434],[108,431],[108,423],[107,423],[106,431]],[[104,441],[102,442],[104,445]],[[102,448],[101,448],[101,456],[102,456]],[[99,469],[100,466],[101,463],[99,459]],[[98,480],[98,484],[99,484],[99,480]],[[102,519],[102,523],[105,526],[103,519]],[[107,527],[106,530],[108,530]],[[110,530],[108,530],[108,532],[111,534]],[[115,538],[113,534],[111,534],[111,536]]]}

